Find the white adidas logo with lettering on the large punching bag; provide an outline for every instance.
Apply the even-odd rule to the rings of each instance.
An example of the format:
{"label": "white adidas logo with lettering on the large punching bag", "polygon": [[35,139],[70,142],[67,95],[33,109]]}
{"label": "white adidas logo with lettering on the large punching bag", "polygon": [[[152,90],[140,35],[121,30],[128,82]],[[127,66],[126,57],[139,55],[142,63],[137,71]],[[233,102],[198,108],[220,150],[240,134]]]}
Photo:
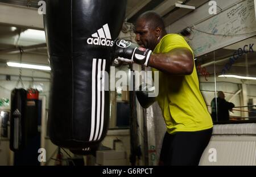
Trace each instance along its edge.
{"label": "white adidas logo with lettering on the large punching bag", "polygon": [[92,37],[89,37],[87,39],[87,44],[112,47],[114,41],[112,41],[108,23],[104,24],[104,26],[98,29],[96,33],[93,33]]}

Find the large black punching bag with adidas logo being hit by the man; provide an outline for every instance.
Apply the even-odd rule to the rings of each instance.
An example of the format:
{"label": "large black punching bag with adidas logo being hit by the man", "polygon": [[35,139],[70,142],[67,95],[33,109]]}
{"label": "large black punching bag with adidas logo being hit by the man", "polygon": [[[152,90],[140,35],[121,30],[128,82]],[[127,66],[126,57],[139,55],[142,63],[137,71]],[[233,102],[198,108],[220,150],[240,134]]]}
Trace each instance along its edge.
{"label": "large black punching bag with adidas logo being hit by the man", "polygon": [[[69,149],[97,147],[109,123],[110,71],[126,0],[46,1],[44,28],[51,63],[49,137]],[[103,89],[104,90],[104,89]]]}

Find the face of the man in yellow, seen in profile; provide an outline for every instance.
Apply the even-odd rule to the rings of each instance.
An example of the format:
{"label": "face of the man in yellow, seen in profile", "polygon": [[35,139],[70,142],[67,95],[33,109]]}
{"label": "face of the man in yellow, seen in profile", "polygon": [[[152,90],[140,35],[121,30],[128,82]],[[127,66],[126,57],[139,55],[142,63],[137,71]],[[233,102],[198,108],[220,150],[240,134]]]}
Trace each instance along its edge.
{"label": "face of the man in yellow, seen in profile", "polygon": [[158,36],[155,35],[155,29],[144,19],[138,19],[135,25],[135,41],[143,48],[154,50]]}

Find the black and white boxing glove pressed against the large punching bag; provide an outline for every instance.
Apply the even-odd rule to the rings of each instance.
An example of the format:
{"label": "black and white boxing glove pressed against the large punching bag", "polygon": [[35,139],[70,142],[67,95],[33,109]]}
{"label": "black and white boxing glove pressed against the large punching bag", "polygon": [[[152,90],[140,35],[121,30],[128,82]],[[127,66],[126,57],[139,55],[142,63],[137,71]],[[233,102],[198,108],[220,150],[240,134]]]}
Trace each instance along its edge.
{"label": "black and white boxing glove pressed against the large punching bag", "polygon": [[152,50],[139,47],[131,41],[119,39],[115,41],[113,48],[114,64],[125,62],[127,64],[140,64],[148,66]]}

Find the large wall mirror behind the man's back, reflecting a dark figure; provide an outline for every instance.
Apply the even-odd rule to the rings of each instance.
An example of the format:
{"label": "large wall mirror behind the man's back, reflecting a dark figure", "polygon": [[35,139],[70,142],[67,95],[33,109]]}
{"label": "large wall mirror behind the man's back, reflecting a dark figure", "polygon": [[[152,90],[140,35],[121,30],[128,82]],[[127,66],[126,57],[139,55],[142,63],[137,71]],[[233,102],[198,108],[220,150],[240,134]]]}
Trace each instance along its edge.
{"label": "large wall mirror behind the man's back, reflecting a dark figure", "polygon": [[256,36],[197,57],[200,89],[214,123],[256,120]]}

